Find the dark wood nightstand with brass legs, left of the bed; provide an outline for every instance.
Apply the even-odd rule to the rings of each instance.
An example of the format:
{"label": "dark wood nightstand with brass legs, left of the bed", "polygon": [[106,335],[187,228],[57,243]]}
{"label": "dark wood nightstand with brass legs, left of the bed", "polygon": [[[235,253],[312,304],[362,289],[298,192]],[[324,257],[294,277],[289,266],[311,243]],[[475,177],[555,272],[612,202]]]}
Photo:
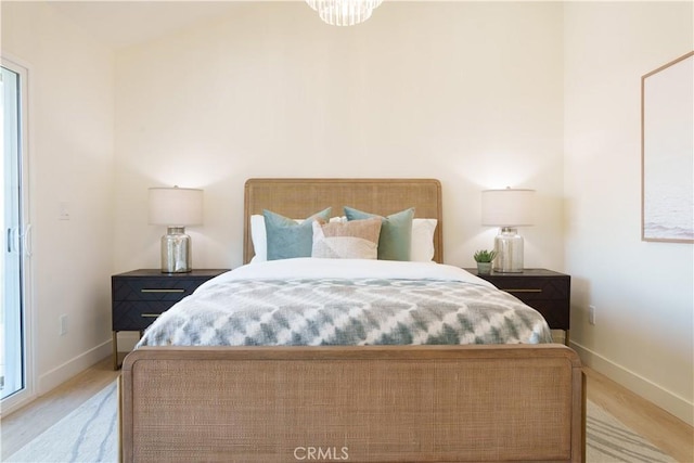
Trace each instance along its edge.
{"label": "dark wood nightstand with brass legs, left of the bed", "polygon": [[111,278],[113,366],[118,370],[118,332],[142,333],[174,304],[207,280],[228,269],[201,269],[188,273],[162,273],[141,269]]}

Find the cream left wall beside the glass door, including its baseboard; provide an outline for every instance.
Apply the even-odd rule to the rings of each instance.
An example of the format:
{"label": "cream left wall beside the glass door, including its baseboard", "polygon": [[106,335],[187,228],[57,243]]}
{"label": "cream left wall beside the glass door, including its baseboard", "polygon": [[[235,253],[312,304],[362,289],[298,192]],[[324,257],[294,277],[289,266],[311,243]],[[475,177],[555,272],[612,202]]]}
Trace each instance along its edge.
{"label": "cream left wall beside the glass door, including its baseboard", "polygon": [[[110,352],[114,56],[44,3],[2,2],[2,53],[29,67],[34,339],[42,394]],[[67,203],[69,221],[60,221]],[[68,331],[60,336],[59,317]]]}

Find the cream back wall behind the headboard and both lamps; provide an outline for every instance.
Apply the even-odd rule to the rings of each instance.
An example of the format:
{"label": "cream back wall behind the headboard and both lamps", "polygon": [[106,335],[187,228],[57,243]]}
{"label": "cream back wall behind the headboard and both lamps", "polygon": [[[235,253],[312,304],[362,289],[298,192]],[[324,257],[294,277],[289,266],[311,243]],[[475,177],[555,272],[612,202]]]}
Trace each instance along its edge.
{"label": "cream back wall behind the headboard and both lamps", "polygon": [[445,257],[493,246],[480,191],[538,191],[528,267],[563,266],[562,7],[386,2],[358,27],[304,2],[235,14],[121,50],[115,269],[157,267],[147,188],[205,190],[194,267],[242,262],[250,177],[434,177]]}

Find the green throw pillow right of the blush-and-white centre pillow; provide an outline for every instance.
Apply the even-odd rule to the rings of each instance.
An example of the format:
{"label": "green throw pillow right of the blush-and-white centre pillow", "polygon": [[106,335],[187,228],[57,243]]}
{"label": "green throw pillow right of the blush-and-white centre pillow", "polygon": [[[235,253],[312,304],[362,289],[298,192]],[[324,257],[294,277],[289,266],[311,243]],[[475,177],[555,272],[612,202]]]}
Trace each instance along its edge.
{"label": "green throw pillow right of the blush-and-white centre pillow", "polygon": [[378,259],[410,260],[412,246],[412,219],[414,208],[382,217],[377,214],[363,213],[345,206],[347,220],[361,220],[370,217],[381,217],[381,236],[378,237]]}

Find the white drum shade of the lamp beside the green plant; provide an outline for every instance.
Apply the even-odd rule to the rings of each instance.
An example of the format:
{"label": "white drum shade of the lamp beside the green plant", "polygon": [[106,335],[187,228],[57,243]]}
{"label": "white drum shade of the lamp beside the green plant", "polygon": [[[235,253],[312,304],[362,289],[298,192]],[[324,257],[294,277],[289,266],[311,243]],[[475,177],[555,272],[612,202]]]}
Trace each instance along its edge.
{"label": "white drum shade of the lamp beside the green plant", "polygon": [[535,190],[485,190],[481,192],[481,224],[493,227],[531,226]]}

